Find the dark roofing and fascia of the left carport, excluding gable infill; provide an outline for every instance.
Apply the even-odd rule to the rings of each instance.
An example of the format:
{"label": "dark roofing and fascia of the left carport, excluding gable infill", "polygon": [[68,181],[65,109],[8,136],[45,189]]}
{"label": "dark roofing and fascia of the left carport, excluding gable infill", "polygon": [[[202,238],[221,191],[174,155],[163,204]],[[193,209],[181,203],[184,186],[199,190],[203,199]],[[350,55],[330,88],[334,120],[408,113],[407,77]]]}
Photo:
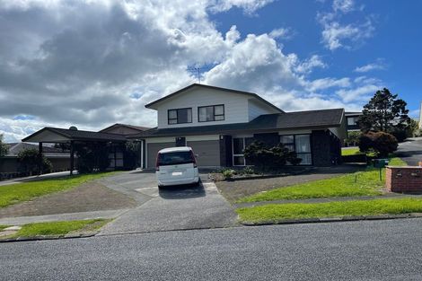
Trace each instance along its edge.
{"label": "dark roofing and fascia of the left carport, excluding gable infill", "polygon": [[[39,131],[33,133],[31,136],[27,136],[22,139],[22,142],[31,142],[32,136],[37,136],[43,131],[50,131],[52,133],[56,133],[60,136],[65,136],[70,140],[83,140],[83,141],[126,141],[126,137],[119,134],[108,134],[108,133],[100,133],[100,132],[92,132],[92,131],[84,131],[84,130],[72,130],[67,128],[60,128],[60,127],[44,127]],[[48,142],[48,140],[46,140]]]}

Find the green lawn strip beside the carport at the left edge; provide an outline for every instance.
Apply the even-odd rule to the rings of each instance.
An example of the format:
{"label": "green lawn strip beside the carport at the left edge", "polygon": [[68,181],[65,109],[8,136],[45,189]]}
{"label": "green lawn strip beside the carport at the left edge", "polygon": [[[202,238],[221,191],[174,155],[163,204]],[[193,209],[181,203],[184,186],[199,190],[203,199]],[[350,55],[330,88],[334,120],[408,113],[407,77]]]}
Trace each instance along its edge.
{"label": "green lawn strip beside the carport at the left edge", "polygon": [[0,186],[0,207],[28,201],[49,193],[75,188],[86,181],[97,180],[114,172],[67,176],[51,180],[34,180]]}

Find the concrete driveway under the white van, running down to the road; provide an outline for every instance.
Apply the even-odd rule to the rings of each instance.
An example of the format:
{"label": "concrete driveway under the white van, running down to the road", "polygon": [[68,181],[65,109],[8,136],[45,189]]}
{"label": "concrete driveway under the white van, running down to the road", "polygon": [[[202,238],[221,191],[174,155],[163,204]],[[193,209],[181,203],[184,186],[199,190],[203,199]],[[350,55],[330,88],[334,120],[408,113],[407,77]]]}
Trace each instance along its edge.
{"label": "concrete driveway under the white van, running down to the road", "polygon": [[158,189],[154,172],[130,172],[100,180],[110,189],[134,198],[139,206],[120,215],[100,235],[148,233],[236,225],[233,207],[221,196],[207,174],[202,183]]}

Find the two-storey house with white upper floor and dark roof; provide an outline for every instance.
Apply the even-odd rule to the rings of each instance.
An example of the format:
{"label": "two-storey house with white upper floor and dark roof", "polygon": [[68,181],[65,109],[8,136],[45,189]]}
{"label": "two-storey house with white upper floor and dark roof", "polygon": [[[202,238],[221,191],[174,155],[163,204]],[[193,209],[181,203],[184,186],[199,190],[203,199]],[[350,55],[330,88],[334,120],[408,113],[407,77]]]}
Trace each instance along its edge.
{"label": "two-storey house with white upper floor and dark roof", "polygon": [[160,149],[188,145],[198,166],[245,166],[245,146],[254,140],[282,143],[302,165],[341,161],[347,136],[344,109],[285,112],[252,92],[194,83],[145,105],[156,110],[158,126],[135,136],[143,143],[143,166],[152,169]]}

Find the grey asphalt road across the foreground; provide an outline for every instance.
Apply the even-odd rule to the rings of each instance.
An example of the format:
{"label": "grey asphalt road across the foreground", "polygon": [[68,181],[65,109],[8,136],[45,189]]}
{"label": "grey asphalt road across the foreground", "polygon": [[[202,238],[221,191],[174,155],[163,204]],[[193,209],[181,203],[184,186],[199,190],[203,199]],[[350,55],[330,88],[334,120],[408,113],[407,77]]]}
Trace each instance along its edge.
{"label": "grey asphalt road across the foreground", "polygon": [[421,280],[422,219],[0,243],[2,280]]}

